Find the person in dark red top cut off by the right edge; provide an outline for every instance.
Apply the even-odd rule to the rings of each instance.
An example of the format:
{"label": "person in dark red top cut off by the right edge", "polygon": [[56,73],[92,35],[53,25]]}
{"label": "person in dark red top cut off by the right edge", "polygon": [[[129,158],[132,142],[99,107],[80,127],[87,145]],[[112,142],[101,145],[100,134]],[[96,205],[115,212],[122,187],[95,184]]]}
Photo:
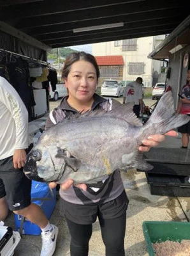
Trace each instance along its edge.
{"label": "person in dark red top cut off by the right edge", "polygon": [[[187,81],[182,87],[180,95],[182,95],[183,98],[180,98],[179,100],[177,113],[190,116],[190,68],[187,70]],[[181,148],[187,148],[190,136],[190,121],[187,124],[180,126],[177,131],[182,134]]]}

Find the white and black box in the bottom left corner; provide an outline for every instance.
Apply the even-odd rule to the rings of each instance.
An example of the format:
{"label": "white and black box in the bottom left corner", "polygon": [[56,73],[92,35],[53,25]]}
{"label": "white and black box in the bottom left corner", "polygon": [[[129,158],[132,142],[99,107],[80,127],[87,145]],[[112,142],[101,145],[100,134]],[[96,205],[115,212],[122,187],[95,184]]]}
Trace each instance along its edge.
{"label": "white and black box in the bottom left corner", "polygon": [[12,256],[20,241],[20,234],[12,230],[11,227],[0,225],[0,255]]}

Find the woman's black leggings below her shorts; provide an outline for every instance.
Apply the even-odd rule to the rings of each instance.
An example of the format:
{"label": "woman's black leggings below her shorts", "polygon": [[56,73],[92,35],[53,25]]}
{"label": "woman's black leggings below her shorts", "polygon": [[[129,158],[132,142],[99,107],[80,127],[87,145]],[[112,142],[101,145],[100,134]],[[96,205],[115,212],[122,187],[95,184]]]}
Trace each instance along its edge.
{"label": "woman's black leggings below her shorts", "polygon": [[[87,256],[92,224],[80,225],[66,218],[71,234],[71,256]],[[126,213],[112,220],[100,220],[101,236],[106,247],[106,256],[124,256],[124,237],[126,232]],[[97,244],[98,246],[98,244]]]}

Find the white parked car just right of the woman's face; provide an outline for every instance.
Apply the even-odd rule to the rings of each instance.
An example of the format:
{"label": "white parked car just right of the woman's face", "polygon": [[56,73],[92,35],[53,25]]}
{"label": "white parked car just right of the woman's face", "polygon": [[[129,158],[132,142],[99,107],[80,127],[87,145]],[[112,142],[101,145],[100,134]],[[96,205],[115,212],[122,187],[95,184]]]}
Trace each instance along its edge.
{"label": "white parked car just right of the woman's face", "polygon": [[101,85],[101,95],[102,96],[116,96],[120,97],[123,95],[124,86],[122,85],[122,81],[119,80],[104,80]]}

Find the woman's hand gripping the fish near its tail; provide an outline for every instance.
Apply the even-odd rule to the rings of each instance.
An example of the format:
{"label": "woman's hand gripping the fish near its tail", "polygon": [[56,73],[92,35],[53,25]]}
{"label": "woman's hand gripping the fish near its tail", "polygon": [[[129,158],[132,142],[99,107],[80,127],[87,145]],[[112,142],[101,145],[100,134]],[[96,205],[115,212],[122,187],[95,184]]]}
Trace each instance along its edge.
{"label": "woman's hand gripping the fish near its tail", "polygon": [[164,141],[165,135],[175,137],[178,135],[178,133],[175,131],[169,131],[169,132],[166,132],[166,134],[164,135],[161,135],[161,134],[150,135],[147,139],[142,141],[143,145],[140,145],[138,150],[142,152],[149,151],[151,147],[156,147],[157,145],[159,145],[161,141]]}

